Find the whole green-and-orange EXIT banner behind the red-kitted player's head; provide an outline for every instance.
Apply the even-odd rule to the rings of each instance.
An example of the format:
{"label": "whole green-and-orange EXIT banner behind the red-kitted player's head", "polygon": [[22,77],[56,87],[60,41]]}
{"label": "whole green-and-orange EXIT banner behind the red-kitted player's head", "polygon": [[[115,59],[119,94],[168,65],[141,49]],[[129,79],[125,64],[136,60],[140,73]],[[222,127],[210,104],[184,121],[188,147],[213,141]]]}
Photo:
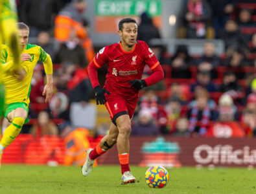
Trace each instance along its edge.
{"label": "whole green-and-orange EXIT banner behind the red-kitted player's head", "polygon": [[116,33],[119,21],[125,17],[139,16],[147,12],[154,25],[161,27],[162,2],[159,0],[97,0],[95,2],[95,30],[98,33]]}

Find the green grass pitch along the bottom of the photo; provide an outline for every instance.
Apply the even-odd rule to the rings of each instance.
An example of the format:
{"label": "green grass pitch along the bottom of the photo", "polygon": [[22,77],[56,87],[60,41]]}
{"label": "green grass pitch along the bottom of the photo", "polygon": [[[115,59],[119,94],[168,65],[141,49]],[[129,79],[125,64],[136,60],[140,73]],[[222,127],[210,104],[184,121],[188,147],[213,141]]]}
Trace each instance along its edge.
{"label": "green grass pitch along the bottom of the photo", "polygon": [[0,193],[256,193],[256,170],[246,168],[167,168],[170,179],[162,189],[146,185],[147,167],[131,169],[138,182],[122,186],[119,166],[97,166],[83,177],[80,167],[3,165]]}

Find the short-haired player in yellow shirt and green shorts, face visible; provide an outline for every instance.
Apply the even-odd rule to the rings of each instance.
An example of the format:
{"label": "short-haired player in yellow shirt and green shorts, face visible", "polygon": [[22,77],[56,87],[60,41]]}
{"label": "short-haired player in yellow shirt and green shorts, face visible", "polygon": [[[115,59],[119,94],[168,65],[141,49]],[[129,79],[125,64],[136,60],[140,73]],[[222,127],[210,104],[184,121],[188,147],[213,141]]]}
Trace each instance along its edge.
{"label": "short-haired player in yellow shirt and green shorts, face visible", "polygon": [[[21,70],[13,69],[13,56],[8,45],[2,46],[0,62],[5,72],[3,82],[5,83],[5,118],[11,124],[5,129],[0,142],[0,158],[3,149],[19,135],[23,124],[29,122],[27,116],[29,111],[29,94],[31,79],[34,67],[38,61],[43,62],[47,84],[44,87],[43,95],[46,95],[45,102],[49,102],[52,96],[52,60],[38,45],[28,44],[29,27],[25,23],[18,23],[18,36],[21,50]],[[17,79],[19,78],[19,79]]]}

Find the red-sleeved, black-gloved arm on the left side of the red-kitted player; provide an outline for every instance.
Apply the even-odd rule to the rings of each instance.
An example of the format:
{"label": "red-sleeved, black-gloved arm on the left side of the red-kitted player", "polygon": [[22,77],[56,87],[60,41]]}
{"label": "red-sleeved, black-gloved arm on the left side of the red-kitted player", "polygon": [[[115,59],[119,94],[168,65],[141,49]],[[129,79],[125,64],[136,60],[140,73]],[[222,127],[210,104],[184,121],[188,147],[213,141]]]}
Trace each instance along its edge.
{"label": "red-sleeved, black-gloved arm on the left side of the red-kitted player", "polygon": [[97,105],[104,104],[106,102],[106,98],[104,93],[106,92],[107,94],[110,94],[109,91],[106,89],[102,89],[100,86],[100,83],[98,81],[98,69],[106,63],[108,60],[108,57],[106,55],[106,51],[104,52],[105,48],[102,48],[97,56],[93,58],[91,63],[89,63],[88,66],[88,74],[89,74],[89,79],[91,81],[91,85],[93,86],[93,89],[95,91],[95,96],[96,96],[96,102]]}

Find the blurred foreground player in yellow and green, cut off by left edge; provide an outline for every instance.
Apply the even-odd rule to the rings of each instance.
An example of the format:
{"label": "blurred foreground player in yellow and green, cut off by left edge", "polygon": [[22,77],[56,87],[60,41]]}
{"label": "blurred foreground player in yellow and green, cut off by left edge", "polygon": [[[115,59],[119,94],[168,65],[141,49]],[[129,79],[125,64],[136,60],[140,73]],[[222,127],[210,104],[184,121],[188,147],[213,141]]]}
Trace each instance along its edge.
{"label": "blurred foreground player in yellow and green, cut off by left edge", "polygon": [[[13,69],[16,71],[19,70],[21,67],[21,60],[19,57],[20,50],[17,40],[17,14],[14,0],[0,0],[0,45],[2,41],[5,41],[5,43],[9,45],[12,55],[14,56]],[[3,84],[2,79],[4,74],[3,71],[4,70],[0,65],[0,120],[3,116],[3,106],[5,103],[5,85]]]}

